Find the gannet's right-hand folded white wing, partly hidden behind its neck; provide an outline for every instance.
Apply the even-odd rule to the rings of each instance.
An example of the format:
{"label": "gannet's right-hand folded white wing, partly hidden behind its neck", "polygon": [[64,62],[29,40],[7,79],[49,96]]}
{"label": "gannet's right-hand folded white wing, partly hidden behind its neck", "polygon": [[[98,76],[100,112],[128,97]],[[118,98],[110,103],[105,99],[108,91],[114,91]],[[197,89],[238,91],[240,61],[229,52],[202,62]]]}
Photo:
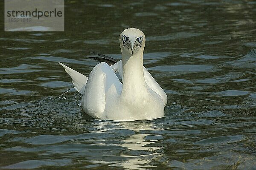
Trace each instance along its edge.
{"label": "gannet's right-hand folded white wing, partly hidden behind its neck", "polygon": [[[112,65],[111,68],[114,72],[117,72],[120,77],[122,78],[122,60],[119,62],[116,62],[116,64]],[[157,83],[157,81],[154,79],[154,77],[151,76],[151,74],[148,72],[148,70],[143,66],[144,71],[144,78],[145,82],[147,83],[148,87],[151,88],[154,92],[156,92],[161,98],[163,99],[164,105],[167,103],[167,95],[163,91],[163,88],[160,87],[160,85]]]}

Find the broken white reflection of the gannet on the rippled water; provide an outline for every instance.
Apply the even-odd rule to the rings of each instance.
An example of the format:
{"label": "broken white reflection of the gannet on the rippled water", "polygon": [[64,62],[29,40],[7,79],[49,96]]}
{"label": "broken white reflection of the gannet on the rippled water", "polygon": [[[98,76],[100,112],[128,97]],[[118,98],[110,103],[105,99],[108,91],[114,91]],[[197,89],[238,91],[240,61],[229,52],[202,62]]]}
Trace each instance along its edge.
{"label": "broken white reflection of the gannet on the rippled water", "polygon": [[111,142],[102,140],[98,144],[119,146],[122,149],[116,155],[108,155],[108,159],[102,157],[102,160],[90,160],[90,162],[137,170],[155,167],[151,161],[163,156],[163,147],[155,144],[161,139],[161,136],[154,131],[160,130],[163,129],[148,121],[110,122],[97,120],[97,123],[94,122],[90,128],[90,133],[117,133],[116,139],[118,139]]}

